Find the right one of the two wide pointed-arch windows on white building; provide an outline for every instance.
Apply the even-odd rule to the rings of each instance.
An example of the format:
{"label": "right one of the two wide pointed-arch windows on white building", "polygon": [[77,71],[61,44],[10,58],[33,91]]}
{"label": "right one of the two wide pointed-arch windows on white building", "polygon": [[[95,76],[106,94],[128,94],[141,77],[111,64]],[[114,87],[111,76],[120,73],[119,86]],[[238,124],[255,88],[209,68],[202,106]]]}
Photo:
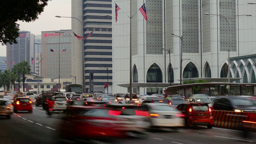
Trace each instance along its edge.
{"label": "right one of the two wide pointed-arch windows on white building", "polygon": [[186,65],[183,71],[183,78],[198,78],[198,71],[196,66],[190,62]]}

